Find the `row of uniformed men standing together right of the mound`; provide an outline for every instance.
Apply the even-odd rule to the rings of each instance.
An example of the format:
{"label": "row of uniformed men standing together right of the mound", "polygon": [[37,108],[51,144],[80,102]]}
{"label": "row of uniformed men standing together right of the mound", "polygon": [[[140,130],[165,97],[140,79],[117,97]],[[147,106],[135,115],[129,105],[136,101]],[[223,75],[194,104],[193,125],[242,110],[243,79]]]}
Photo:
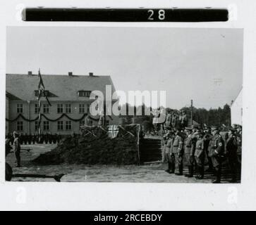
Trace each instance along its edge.
{"label": "row of uniformed men standing together right of the mound", "polygon": [[183,175],[183,157],[188,164],[187,177],[204,179],[205,161],[208,161],[207,172],[214,175],[213,183],[221,181],[221,165],[228,160],[231,170],[231,182],[237,181],[237,172],[240,169],[240,155],[242,146],[242,127],[233,124],[225,133],[219,127],[192,126],[175,128],[165,126],[162,139],[165,158],[168,162],[166,172]]}

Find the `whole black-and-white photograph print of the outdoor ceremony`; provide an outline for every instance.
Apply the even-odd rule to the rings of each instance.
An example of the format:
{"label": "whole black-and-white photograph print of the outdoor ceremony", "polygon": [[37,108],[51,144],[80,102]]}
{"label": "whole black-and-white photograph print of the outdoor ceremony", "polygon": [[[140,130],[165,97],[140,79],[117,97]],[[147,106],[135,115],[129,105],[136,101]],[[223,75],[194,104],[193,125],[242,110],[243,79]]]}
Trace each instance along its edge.
{"label": "whole black-and-white photograph print of the outdoor ceremony", "polygon": [[243,29],[6,27],[6,181],[241,182]]}

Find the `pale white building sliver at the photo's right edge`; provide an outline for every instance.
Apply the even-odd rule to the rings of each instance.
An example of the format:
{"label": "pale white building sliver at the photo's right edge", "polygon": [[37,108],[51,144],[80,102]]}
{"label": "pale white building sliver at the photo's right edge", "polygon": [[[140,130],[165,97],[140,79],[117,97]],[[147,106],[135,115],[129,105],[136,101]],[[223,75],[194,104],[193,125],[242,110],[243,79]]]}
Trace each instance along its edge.
{"label": "pale white building sliver at the photo's right edge", "polygon": [[231,124],[242,125],[243,117],[243,89],[240,90],[236,100],[231,103]]}

